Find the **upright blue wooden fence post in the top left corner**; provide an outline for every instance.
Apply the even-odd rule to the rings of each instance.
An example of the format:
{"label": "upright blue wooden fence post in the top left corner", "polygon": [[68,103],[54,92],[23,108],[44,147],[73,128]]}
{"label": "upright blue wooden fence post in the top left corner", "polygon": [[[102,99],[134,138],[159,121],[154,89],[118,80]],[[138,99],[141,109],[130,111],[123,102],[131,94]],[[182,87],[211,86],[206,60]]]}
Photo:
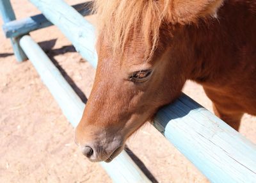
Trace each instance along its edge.
{"label": "upright blue wooden fence post in the top left corner", "polygon": [[[0,0],[0,12],[4,23],[15,20],[15,14],[12,9],[10,0]],[[26,54],[22,51],[19,45],[20,37],[11,38],[13,52],[18,61],[27,60]]]}

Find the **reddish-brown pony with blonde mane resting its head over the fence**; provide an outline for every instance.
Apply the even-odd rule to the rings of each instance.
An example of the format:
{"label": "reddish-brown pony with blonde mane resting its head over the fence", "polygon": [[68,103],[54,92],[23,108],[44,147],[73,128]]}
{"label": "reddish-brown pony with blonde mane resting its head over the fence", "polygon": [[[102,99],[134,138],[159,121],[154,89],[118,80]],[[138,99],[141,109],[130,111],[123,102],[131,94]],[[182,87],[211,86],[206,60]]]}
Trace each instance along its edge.
{"label": "reddish-brown pony with blonde mane resting its head over the fence", "polygon": [[109,162],[187,79],[234,129],[256,115],[256,1],[97,0],[99,62],[76,128],[90,161]]}

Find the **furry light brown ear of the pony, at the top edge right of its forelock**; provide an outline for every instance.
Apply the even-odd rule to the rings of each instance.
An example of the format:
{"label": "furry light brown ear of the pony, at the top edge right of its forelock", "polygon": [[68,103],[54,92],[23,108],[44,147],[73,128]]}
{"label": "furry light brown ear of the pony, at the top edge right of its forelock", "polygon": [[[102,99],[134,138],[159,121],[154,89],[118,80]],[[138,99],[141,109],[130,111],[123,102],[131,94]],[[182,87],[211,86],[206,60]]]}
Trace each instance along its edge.
{"label": "furry light brown ear of the pony, at the top edge right of its forelock", "polygon": [[223,0],[169,0],[172,22],[188,24],[207,16],[216,17]]}

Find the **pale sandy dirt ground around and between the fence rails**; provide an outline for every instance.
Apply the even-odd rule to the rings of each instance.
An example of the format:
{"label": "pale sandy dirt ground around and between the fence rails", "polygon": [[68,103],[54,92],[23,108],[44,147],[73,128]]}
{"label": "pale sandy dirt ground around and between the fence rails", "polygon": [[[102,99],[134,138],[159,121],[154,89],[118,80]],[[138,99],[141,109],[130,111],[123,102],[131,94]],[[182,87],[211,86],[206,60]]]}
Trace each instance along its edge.
{"label": "pale sandy dirt ground around and between the fence rails", "polygon": [[[67,1],[70,4],[83,1]],[[39,13],[26,0],[13,0],[18,19]],[[0,24],[3,24],[0,20]],[[88,97],[95,70],[54,26],[31,33],[76,90]],[[211,101],[195,83],[184,92],[207,109]],[[74,129],[29,61],[17,63],[10,40],[0,35],[0,182],[111,182],[74,144]],[[256,143],[256,118],[244,115],[241,133]],[[153,182],[208,182],[150,124],[127,142]],[[150,145],[150,146],[149,146]],[[146,167],[146,168],[145,168]],[[114,170],[113,170],[114,171]]]}

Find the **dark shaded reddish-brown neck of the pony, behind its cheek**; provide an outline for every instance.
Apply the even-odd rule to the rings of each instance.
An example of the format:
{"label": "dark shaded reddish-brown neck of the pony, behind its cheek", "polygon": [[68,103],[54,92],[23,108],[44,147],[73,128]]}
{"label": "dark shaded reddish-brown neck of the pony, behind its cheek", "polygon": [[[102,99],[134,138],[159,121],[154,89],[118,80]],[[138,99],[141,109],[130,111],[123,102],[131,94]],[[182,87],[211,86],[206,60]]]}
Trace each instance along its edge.
{"label": "dark shaded reddish-brown neck of the pony, behind its cheek", "polygon": [[255,13],[247,6],[226,3],[218,16],[182,27],[179,36],[186,53],[188,79],[215,87],[234,77],[246,77],[249,68],[250,72],[256,68],[252,49],[256,41]]}

